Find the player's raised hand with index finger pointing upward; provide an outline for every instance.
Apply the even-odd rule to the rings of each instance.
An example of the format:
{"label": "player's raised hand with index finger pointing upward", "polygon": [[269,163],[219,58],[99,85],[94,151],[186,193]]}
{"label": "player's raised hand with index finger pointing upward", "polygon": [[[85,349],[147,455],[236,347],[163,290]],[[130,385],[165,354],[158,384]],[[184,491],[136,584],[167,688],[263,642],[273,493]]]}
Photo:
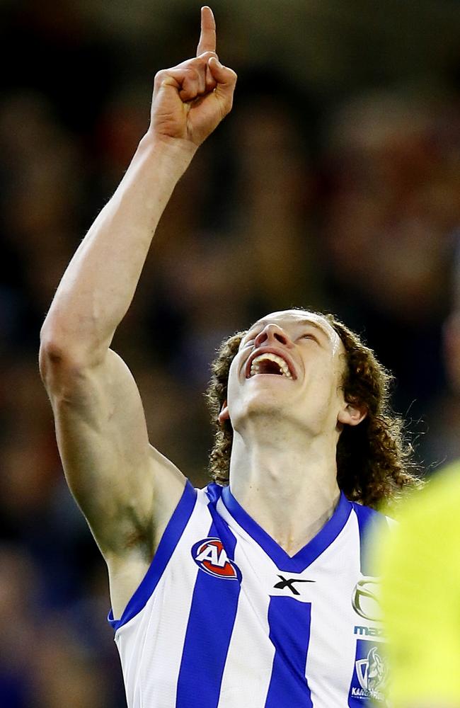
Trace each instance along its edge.
{"label": "player's raised hand with index finger pointing upward", "polygon": [[212,10],[203,7],[196,58],[155,76],[149,131],[200,145],[231,110],[235,84],[235,72],[216,54]]}

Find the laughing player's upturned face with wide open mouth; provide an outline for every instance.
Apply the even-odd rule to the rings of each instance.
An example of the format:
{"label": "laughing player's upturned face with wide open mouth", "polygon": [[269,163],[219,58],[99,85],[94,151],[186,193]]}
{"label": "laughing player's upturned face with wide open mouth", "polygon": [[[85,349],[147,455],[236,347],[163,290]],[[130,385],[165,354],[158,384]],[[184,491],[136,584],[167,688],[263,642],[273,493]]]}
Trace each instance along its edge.
{"label": "laughing player's upturned face with wide open mouth", "polygon": [[220,420],[230,418],[239,430],[251,416],[282,416],[310,433],[333,432],[349,422],[340,388],[344,367],[343,343],[321,315],[268,314],[248,330],[231,363]]}

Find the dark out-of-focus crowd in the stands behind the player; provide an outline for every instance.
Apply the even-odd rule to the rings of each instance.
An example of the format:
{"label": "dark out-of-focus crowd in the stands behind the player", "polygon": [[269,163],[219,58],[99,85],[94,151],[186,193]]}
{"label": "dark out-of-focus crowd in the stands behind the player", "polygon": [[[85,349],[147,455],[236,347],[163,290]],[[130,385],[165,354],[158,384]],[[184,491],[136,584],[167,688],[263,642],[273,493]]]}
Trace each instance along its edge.
{"label": "dark out-of-focus crowd in the stands behind the player", "polygon": [[[183,4],[176,44],[163,31],[150,52],[110,27],[91,31],[77,5],[5,13],[0,707],[125,706],[105,566],[64,482],[38,343],[71,254],[146,130],[146,64],[151,81],[192,51],[195,5],[191,24]],[[11,60],[23,51],[25,68]],[[113,343],[151,442],[207,484],[214,350],[297,305],[334,312],[376,350],[435,474],[460,455],[460,55],[442,76],[334,100],[250,56],[235,47],[234,112],[180,181]]]}

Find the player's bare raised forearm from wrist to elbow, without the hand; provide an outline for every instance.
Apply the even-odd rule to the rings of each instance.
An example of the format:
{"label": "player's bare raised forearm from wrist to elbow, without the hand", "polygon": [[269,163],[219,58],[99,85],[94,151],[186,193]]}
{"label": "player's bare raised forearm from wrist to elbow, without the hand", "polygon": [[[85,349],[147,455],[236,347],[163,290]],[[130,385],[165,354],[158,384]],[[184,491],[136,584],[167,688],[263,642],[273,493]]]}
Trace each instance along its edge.
{"label": "player's bare raised forearm from wrist to elbow, without the hand", "polygon": [[195,149],[185,141],[142,139],[64,273],[43,339],[88,363],[103,357],[130,306],[161,214]]}

